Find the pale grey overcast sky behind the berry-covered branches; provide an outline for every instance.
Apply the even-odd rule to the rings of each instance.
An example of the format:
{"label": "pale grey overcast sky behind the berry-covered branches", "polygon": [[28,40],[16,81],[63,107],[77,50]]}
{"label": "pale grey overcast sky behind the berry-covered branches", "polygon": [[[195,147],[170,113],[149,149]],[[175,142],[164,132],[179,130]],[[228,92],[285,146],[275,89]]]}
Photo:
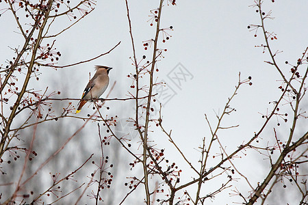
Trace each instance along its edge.
{"label": "pale grey overcast sky behind the berry-covered branches", "polygon": [[[159,1],[129,1],[133,37],[139,60],[143,55],[146,55],[146,59],[151,58],[151,49],[145,51],[142,44],[154,38],[155,27],[150,26],[149,11],[158,5]],[[263,53],[262,48],[256,47],[264,44],[262,33],[258,31],[257,37],[254,37],[255,31],[247,28],[248,25],[259,24],[259,14],[251,5],[253,1],[196,0],[177,1],[176,6],[169,5],[163,8],[161,25],[166,28],[172,26],[172,30],[168,30],[172,37],[165,43],[162,40],[159,42],[159,48],[167,49],[167,52],[163,53],[164,58],[157,63],[157,81],[166,82],[171,97],[166,100],[164,96],[159,96],[158,100],[163,104],[164,127],[166,130],[172,129],[172,137],[194,165],[199,159],[196,148],[201,145],[203,137],[207,138],[210,135],[205,114],[214,125],[216,113],[221,113],[238,83],[239,73],[242,80],[252,77],[253,85],[241,86],[231,103],[236,112],[228,115],[222,122],[224,126],[240,125],[238,128],[218,133],[227,146],[227,152],[231,153],[236,146],[253,137],[254,132],[258,131],[264,122],[261,115],[266,114],[273,106],[269,102],[277,100],[280,95],[277,88],[281,85],[279,73],[273,66],[264,62],[270,60],[268,53]],[[290,69],[290,66],[284,62],[290,61],[295,64],[307,47],[307,8],[308,2],[304,0],[282,0],[274,3],[264,1],[264,12],[272,11],[274,16],[274,19],[266,20],[266,27],[277,36],[277,40],[270,41],[270,44],[273,51],[283,51],[277,55],[277,59],[279,66],[285,70]],[[51,32],[60,31],[69,22],[70,20],[64,16]],[[0,17],[0,27],[3,28],[0,34],[0,60],[3,62],[12,57],[12,51],[8,46],[18,46],[21,36],[12,32],[16,31],[16,25],[9,14]],[[50,86],[51,82],[55,84],[55,90],[61,90],[61,85],[64,85],[65,90],[62,92],[67,96],[63,97],[79,98],[88,83],[89,72],[91,76],[94,74],[94,65],[105,65],[114,68],[110,71],[110,85],[114,82],[116,85],[110,98],[125,98],[127,91],[132,91],[129,90],[131,79],[127,78],[127,74],[134,72],[132,61],[129,59],[132,49],[125,1],[98,1],[90,15],[57,38],[56,48],[62,53],[59,64],[66,65],[105,53],[118,42],[121,42],[120,45],[110,54],[89,63],[58,70],[42,68],[40,81],[31,83],[40,90]],[[183,80],[172,79],[175,74]],[[307,98],[304,100],[304,104],[308,105]],[[105,110],[106,114],[118,115],[119,120],[125,121],[133,113],[133,104],[129,101],[111,101],[106,104],[110,107],[109,111]],[[85,106],[81,115],[86,115],[91,109],[91,106]],[[73,126],[77,128],[82,123],[76,122]],[[273,120],[261,136],[272,137],[275,124],[277,121]],[[299,127],[305,124],[307,120],[302,121]],[[94,127],[96,124],[90,124],[89,130],[91,126]],[[288,126],[281,126],[277,131],[283,135],[288,132]],[[297,132],[300,135],[306,131]],[[88,135],[96,137],[97,133]],[[151,137],[157,140],[160,148],[166,148],[168,157],[177,156],[177,151],[170,146],[162,133],[155,133]],[[138,141],[139,139],[132,137],[134,148],[138,148]],[[257,153],[250,151],[246,154],[251,154],[254,160],[243,155],[239,169],[252,175],[251,182],[256,187],[257,182],[266,174],[268,163]],[[125,157],[125,154],[120,156]],[[188,169],[183,161],[177,163]],[[129,172],[129,168],[126,169]],[[191,174],[188,169],[184,174],[185,179],[189,180]],[[248,187],[244,180],[235,183],[235,187],[240,187],[239,189],[248,195]],[[211,190],[203,191],[207,193]],[[224,191],[222,195],[218,195],[212,204],[241,202],[239,198],[229,197],[227,193],[228,191]]]}

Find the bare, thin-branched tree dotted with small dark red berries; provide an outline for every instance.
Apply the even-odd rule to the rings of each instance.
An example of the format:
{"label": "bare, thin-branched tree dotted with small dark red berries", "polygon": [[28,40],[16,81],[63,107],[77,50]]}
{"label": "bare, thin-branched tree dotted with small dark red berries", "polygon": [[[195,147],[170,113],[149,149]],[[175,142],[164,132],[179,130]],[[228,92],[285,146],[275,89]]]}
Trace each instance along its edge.
{"label": "bare, thin-branched tree dotted with small dark red berries", "polygon": [[[114,174],[111,170],[114,167],[115,159],[110,159],[105,154],[108,146],[112,143],[118,143],[117,150],[125,152],[127,158],[131,159],[129,165],[132,172],[126,175],[126,182],[120,181],[122,188],[124,184],[129,188],[129,191],[125,191],[125,189],[114,191],[122,199],[117,200],[119,204],[125,204],[131,195],[140,194],[141,190],[142,197],[136,198],[134,203],[206,204],[208,200],[214,200],[217,195],[226,195],[229,192],[229,195],[237,197],[235,201],[240,204],[259,204],[259,202],[264,204],[278,190],[278,182],[282,182],[283,188],[288,191],[300,193],[300,197],[296,200],[300,204],[307,204],[307,169],[305,169],[305,165],[307,163],[308,132],[305,127],[301,131],[298,124],[301,122],[305,124],[307,119],[305,113],[305,106],[307,106],[305,100],[307,98],[305,98],[305,94],[307,91],[308,47],[303,51],[303,55],[296,59],[295,63],[285,61],[290,70],[283,70],[279,66],[281,59],[277,56],[280,52],[273,51],[271,46],[271,42],[277,40],[277,34],[268,31],[266,28],[267,21],[273,18],[272,12],[265,12],[263,1],[255,1],[251,6],[255,8],[259,15],[260,22],[248,25],[248,29],[255,32],[255,37],[263,36],[264,38],[264,43],[258,47],[264,49],[264,53],[268,53],[270,60],[265,61],[266,64],[270,64],[279,74],[281,81],[279,97],[270,102],[272,108],[267,113],[261,114],[264,122],[253,136],[249,139],[246,138],[238,146],[227,146],[224,135],[229,135],[227,133],[231,133],[231,129],[237,128],[238,124],[225,125],[224,120],[227,116],[235,113],[233,100],[238,95],[240,88],[253,85],[252,77],[242,79],[241,74],[239,74],[238,83],[233,93],[227,98],[222,111],[216,113],[217,120],[213,121],[205,114],[209,134],[203,137],[200,146],[196,148],[199,152],[196,161],[192,161],[184,152],[183,145],[177,143],[177,138],[172,135],[172,131],[165,128],[164,122],[166,119],[162,114],[164,107],[159,102],[162,99],[159,98],[162,97],[162,92],[157,93],[157,90],[164,89],[167,86],[163,81],[157,80],[157,77],[159,77],[159,70],[164,64],[163,58],[167,51],[162,44],[170,39],[170,32],[173,30],[172,26],[162,27],[162,11],[166,7],[173,7],[176,1],[160,0],[158,8],[150,11],[149,24],[150,27],[155,28],[155,33],[153,38],[143,42],[143,49],[144,51],[151,50],[152,53],[151,57],[143,55],[141,59],[138,59],[137,53],[139,51],[133,32],[135,25],[131,20],[129,1],[125,0],[132,49],[131,61],[134,67],[134,72],[127,74],[127,77],[131,80],[130,88],[127,87],[127,90],[129,90],[128,96],[127,98],[94,100],[91,104],[94,111],[91,114],[89,113],[86,118],[73,114],[73,102],[79,99],[55,98],[53,96],[60,93],[49,93],[47,89],[42,92],[34,92],[31,89],[32,87],[29,86],[29,81],[38,79],[37,75],[38,72],[42,72],[42,67],[67,68],[91,61],[116,49],[120,42],[110,51],[92,59],[68,64],[67,66],[58,66],[54,62],[58,60],[61,53],[53,49],[55,41],[49,42],[49,44],[44,42],[49,38],[57,38],[62,32],[70,29],[79,20],[90,14],[94,9],[92,6],[95,2],[80,1],[74,6],[70,5],[69,1],[52,0],[40,1],[36,4],[29,1],[5,1],[5,3],[9,7],[7,11],[12,12],[16,19],[21,36],[25,38],[23,48],[14,50],[16,57],[12,61],[8,61],[8,66],[1,68],[1,102],[3,108],[1,111],[1,126],[3,131],[1,131],[0,156],[1,166],[3,166],[1,171],[5,178],[10,177],[10,169],[14,165],[12,157],[15,161],[20,157],[24,158],[25,161],[18,159],[18,163],[23,165],[23,169],[18,172],[18,178],[14,179],[12,183],[2,184],[5,187],[14,187],[12,193],[1,191],[1,197],[4,198],[3,204],[12,202],[38,204],[47,201],[49,204],[53,204],[60,200],[67,200],[66,202],[70,202],[70,204],[78,204],[81,203],[81,199],[86,199],[86,202],[93,200],[96,204],[103,202],[106,198],[105,193],[107,193],[105,188],[110,189],[114,184]],[[21,11],[25,14],[20,14]],[[68,16],[72,20],[73,18],[77,19],[77,15],[74,15],[75,11],[79,11],[81,14],[78,20],[70,23],[68,27],[56,34],[49,34],[52,25],[56,23],[58,18]],[[32,23],[25,24],[29,27],[28,29],[24,29],[23,23],[21,23],[20,18],[23,15],[32,20]],[[46,46],[43,46],[44,44]],[[27,61],[27,53],[30,53],[30,61]],[[23,78],[22,85],[16,86],[17,79],[21,78]],[[114,92],[114,85],[110,85],[110,93]],[[20,86],[22,86],[21,91],[18,89]],[[68,102],[64,103],[62,113],[56,115],[54,112],[55,102],[66,102],[66,100]],[[111,108],[116,102],[133,102],[134,113],[129,116],[128,120],[121,121],[120,119],[123,118],[120,115],[124,115],[123,113],[113,113],[113,115],[103,113],[103,111],[110,109],[109,106],[105,106],[106,102],[110,102]],[[29,110],[30,113],[27,112]],[[33,174],[29,174],[25,178],[28,161],[40,161],[36,157],[38,153],[34,151],[38,126],[51,122],[57,126],[59,120],[62,120],[61,118],[84,120],[84,124],[76,128],[75,133],[66,138],[62,145],[57,146],[55,152],[48,159],[40,162],[38,168],[32,172]],[[276,119],[277,123],[274,123]],[[31,120],[35,121],[31,122]],[[79,162],[76,168],[70,167],[65,176],[58,172],[50,174],[51,186],[44,188],[44,191],[31,193],[31,190],[25,190],[25,184],[32,178],[36,178],[36,174],[41,172],[49,161],[55,159],[58,153],[64,152],[68,142],[86,126],[89,126],[88,122],[97,124],[97,131],[92,130],[91,133],[97,135],[99,152],[85,154],[87,156],[85,156],[84,162]],[[129,125],[121,131],[119,125],[122,122],[127,122]],[[12,124],[17,128],[13,128]],[[127,130],[129,127],[132,128],[133,132],[129,133]],[[281,127],[283,127],[283,131],[288,130],[287,133],[279,131]],[[33,130],[32,135],[21,135],[21,131],[24,129]],[[269,137],[264,138],[264,133]],[[138,136],[138,141],[132,140],[132,135],[135,134]],[[159,143],[157,136],[164,136],[168,144]],[[25,137],[28,138],[27,140],[31,139],[30,143],[27,146],[21,146],[18,141],[25,140]],[[177,154],[168,153],[170,147],[175,149]],[[25,156],[21,155],[21,152],[25,152]],[[253,156],[252,152],[259,153],[262,159],[266,158],[269,165],[266,168],[266,174],[258,176],[259,183],[255,183],[252,179],[254,173],[250,169],[243,171],[241,165],[244,158]],[[66,153],[68,153],[67,150]],[[94,159],[97,154],[99,154],[99,157]],[[88,182],[82,183],[81,177],[77,178],[75,174],[79,173],[81,169],[88,170],[90,161],[92,161],[94,168],[89,169],[88,173],[84,174],[84,178],[87,177]],[[188,168],[182,169],[179,167],[177,165],[179,161],[186,163]],[[188,173],[188,169],[192,170],[192,176],[183,177],[185,173]],[[142,174],[138,170],[142,170]],[[239,180],[248,189],[235,186],[235,182]],[[66,187],[72,181],[78,185],[71,188],[71,191],[65,190],[65,193],[60,195],[61,190],[64,190],[62,187]],[[292,186],[285,185],[285,181],[291,182]],[[216,186],[207,186],[209,182],[214,182]],[[60,186],[60,184],[62,185]],[[77,190],[79,193],[77,193]],[[22,192],[28,194],[21,195]],[[51,194],[56,197],[53,201],[48,199]]]}

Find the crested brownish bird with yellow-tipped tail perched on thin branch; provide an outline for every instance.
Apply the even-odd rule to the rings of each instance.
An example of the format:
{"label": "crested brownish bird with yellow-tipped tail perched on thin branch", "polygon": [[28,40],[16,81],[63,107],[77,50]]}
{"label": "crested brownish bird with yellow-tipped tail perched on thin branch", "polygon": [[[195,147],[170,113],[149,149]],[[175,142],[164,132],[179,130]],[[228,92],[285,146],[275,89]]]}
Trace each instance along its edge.
{"label": "crested brownish bird with yellow-tipped tail perched on thin branch", "polygon": [[107,89],[109,84],[109,72],[112,68],[107,66],[95,66],[94,77],[89,81],[84,93],[81,96],[81,100],[78,103],[76,113],[81,111],[81,108],[86,104],[89,99],[99,98]]}

